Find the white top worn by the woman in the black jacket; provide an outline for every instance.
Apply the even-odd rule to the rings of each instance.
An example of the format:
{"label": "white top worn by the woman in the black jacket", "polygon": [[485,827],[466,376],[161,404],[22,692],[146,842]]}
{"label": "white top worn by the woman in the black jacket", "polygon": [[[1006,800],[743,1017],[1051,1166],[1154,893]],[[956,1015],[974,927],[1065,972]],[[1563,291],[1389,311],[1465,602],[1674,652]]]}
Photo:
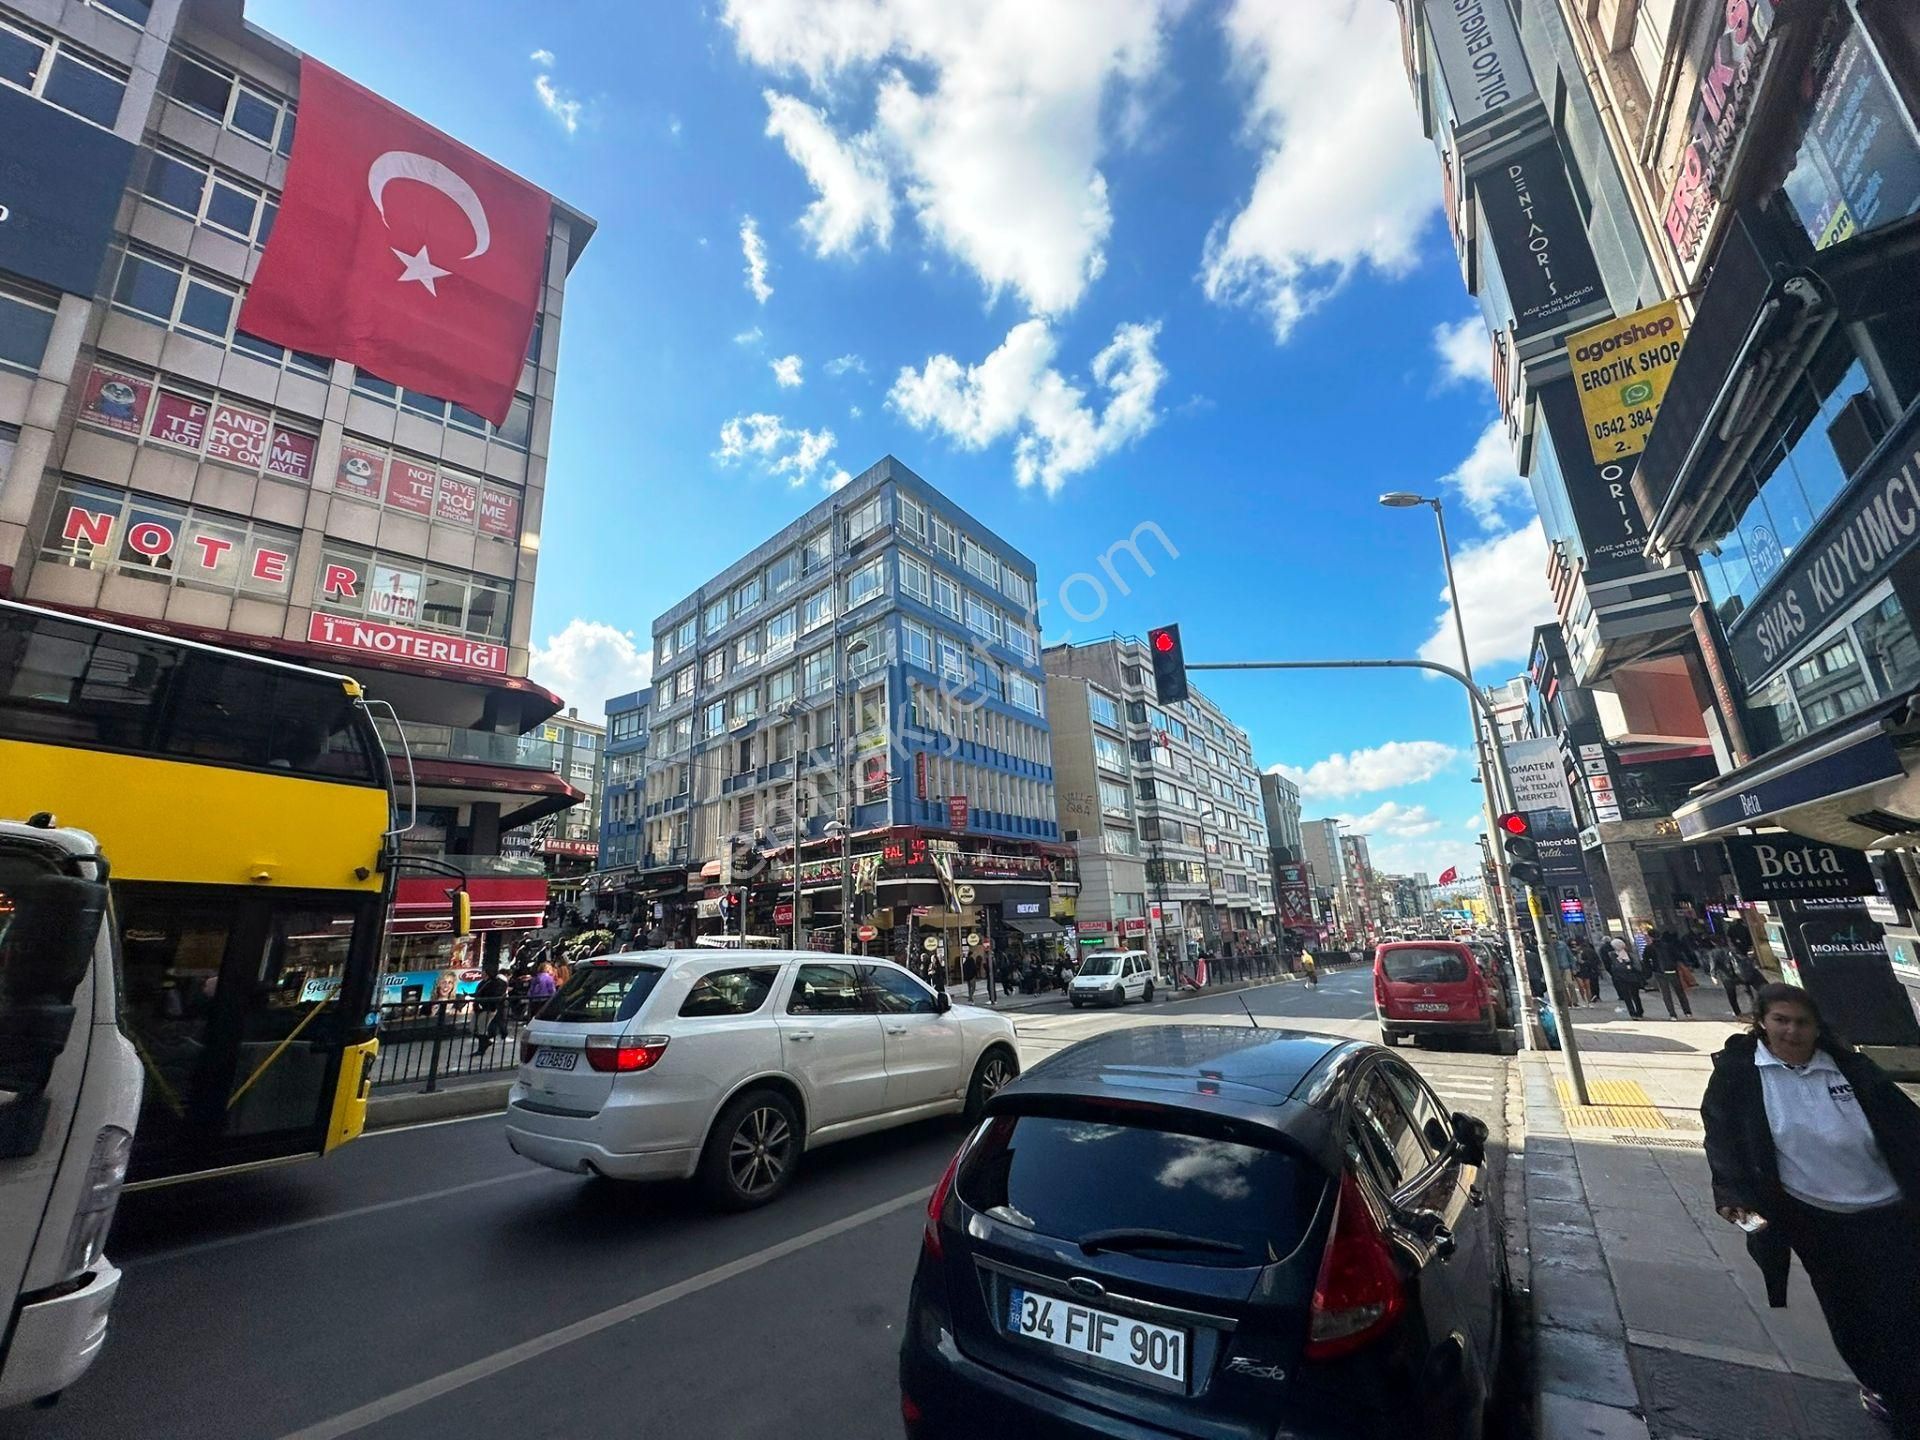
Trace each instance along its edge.
{"label": "white top worn by the woman in the black jacket", "polygon": [[1874,1127],[1834,1056],[1814,1050],[1805,1066],[1789,1066],[1757,1044],[1753,1064],[1788,1194],[1822,1210],[1872,1210],[1901,1198]]}

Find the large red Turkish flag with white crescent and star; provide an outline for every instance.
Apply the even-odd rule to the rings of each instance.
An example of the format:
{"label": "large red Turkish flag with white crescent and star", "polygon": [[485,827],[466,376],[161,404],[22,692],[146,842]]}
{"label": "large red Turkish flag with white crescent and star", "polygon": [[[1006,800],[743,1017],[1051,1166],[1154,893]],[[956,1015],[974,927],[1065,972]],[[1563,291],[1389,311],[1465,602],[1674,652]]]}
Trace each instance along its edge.
{"label": "large red Turkish flag with white crescent and star", "polygon": [[317,60],[240,328],[499,424],[545,282],[553,202]]}

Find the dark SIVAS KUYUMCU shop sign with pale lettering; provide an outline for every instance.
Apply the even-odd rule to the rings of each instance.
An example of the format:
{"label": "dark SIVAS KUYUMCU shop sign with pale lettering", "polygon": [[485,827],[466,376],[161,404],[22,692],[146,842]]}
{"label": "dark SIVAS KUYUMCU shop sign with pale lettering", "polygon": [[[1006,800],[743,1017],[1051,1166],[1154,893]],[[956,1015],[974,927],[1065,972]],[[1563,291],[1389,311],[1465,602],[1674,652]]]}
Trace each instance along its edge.
{"label": "dark SIVAS KUYUMCU shop sign with pale lettering", "polygon": [[1920,411],[1728,632],[1747,687],[1876,586],[1920,538]]}

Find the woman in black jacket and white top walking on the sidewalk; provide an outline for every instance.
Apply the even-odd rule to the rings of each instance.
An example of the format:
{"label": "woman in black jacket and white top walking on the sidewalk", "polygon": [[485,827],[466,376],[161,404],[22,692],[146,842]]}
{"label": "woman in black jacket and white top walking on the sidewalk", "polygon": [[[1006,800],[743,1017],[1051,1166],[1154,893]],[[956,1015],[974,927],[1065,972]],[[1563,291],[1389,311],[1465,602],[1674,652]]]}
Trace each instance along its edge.
{"label": "woman in black jacket and white top walking on the sidewalk", "polygon": [[1797,1256],[1860,1404],[1920,1436],[1920,1108],[1807,991],[1764,985],[1699,1112],[1715,1210],[1747,1231],[1768,1302],[1786,1304]]}

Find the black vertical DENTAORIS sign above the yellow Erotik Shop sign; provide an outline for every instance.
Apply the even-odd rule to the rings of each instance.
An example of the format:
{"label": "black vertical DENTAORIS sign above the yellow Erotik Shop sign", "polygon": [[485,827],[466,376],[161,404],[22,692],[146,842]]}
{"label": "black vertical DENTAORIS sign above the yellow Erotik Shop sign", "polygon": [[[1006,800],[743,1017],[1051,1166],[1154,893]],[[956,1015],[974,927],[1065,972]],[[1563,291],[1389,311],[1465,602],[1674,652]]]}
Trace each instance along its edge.
{"label": "black vertical DENTAORIS sign above the yellow Erotik Shop sign", "polygon": [[1607,303],[1555,136],[1484,171],[1475,194],[1521,344]]}

